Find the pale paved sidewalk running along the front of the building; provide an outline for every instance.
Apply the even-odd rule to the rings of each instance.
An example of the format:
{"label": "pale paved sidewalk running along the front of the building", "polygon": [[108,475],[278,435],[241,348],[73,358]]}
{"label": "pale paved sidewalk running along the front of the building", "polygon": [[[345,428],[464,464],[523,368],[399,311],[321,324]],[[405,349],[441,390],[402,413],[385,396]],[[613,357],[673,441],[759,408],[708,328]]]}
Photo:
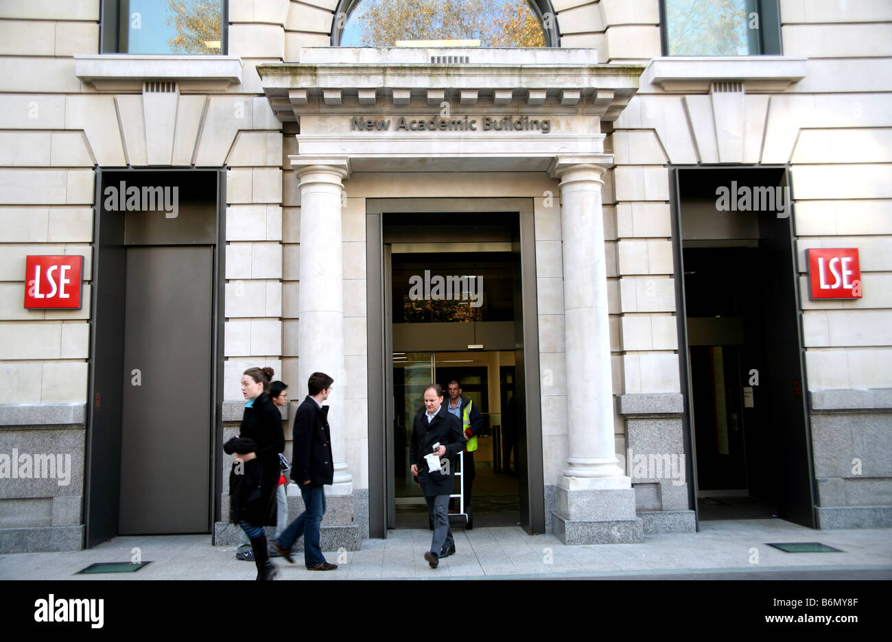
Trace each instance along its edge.
{"label": "pale paved sidewalk running along the front of the building", "polygon": [[[430,547],[426,530],[390,531],[387,539],[366,539],[359,551],[326,551],[332,572],[310,572],[303,554],[295,564],[274,560],[280,580],[361,580],[434,578],[580,578],[642,575],[666,579],[706,570],[743,577],[771,571],[794,577],[796,571],[865,567],[871,577],[892,578],[892,529],[814,531],[780,519],[701,522],[698,533],[648,535],[642,544],[565,546],[552,535],[527,535],[520,527],[454,531],[457,553],[432,569],[424,559]],[[821,542],[842,553],[785,553],[769,542]],[[95,562],[129,562],[138,547],[143,561],[132,573],[78,575]],[[831,568],[830,568],[831,567]],[[787,571],[785,575],[783,572]],[[779,574],[780,573],[780,574]],[[0,556],[0,580],[253,580],[252,563],[235,559],[235,547],[212,547],[210,535],[118,537],[71,553],[21,553]]]}

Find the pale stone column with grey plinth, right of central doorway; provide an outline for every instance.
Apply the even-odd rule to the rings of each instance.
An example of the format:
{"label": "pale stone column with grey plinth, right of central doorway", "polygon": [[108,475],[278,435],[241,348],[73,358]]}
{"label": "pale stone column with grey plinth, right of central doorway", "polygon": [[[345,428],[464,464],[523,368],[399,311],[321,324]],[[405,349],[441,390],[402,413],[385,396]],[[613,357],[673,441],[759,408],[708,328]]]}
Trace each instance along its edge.
{"label": "pale stone column with grey plinth, right of central doorway", "polygon": [[558,478],[555,534],[567,544],[641,541],[632,483],[614,442],[607,314],[603,174],[609,154],[558,157],[566,333],[566,469]]}

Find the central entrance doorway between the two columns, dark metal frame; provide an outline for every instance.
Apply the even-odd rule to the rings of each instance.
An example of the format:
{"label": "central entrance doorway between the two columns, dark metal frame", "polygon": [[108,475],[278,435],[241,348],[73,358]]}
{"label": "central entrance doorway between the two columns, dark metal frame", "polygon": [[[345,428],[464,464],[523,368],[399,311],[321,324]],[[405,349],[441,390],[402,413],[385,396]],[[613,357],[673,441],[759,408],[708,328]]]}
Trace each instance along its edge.
{"label": "central entrance doorway between the two columns, dark metal frame", "polygon": [[[384,302],[380,353],[373,345],[372,300],[368,317],[370,371],[380,354],[384,398],[381,415],[373,418],[370,374],[370,442],[376,421],[383,422],[384,438],[377,490],[374,451],[369,452],[370,532],[381,533],[373,537],[385,537],[386,529],[428,526],[427,506],[409,473],[409,440],[413,419],[424,407],[425,386],[439,383],[446,391],[450,381],[458,382],[461,395],[482,415],[471,490],[473,527],[519,523],[531,532],[544,530],[532,208],[475,211],[474,205],[497,200],[436,200],[450,201],[458,207],[434,213],[401,212],[399,205],[411,205],[382,203],[380,218],[367,226],[369,248],[373,239],[381,242]],[[374,273],[370,265],[370,292]],[[382,494],[382,531],[375,530],[376,492]],[[456,498],[450,513],[459,512]],[[459,525],[465,525],[464,517],[453,523]]]}

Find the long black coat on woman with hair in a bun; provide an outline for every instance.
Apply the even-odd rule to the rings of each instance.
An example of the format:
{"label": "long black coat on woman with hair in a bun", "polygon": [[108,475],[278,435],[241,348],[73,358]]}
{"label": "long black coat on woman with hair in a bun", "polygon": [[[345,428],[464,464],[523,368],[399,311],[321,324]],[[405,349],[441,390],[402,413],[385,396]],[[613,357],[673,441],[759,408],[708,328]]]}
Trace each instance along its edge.
{"label": "long black coat on woman with hair in a bun", "polygon": [[[229,521],[244,520],[254,526],[276,526],[276,490],[281,468],[278,454],[285,450],[282,415],[266,392],[261,392],[252,407],[244,408],[239,438],[257,444],[255,459],[229,473]],[[238,452],[237,441],[230,440],[224,449]],[[228,448],[227,448],[228,447]],[[241,473],[239,471],[241,470]]]}

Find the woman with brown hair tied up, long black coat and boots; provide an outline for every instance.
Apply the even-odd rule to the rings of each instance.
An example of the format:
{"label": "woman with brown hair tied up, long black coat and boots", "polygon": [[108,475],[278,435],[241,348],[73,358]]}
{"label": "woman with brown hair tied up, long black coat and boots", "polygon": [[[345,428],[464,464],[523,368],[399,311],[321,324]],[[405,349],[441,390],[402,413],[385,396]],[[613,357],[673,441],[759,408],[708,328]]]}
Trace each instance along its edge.
{"label": "woman with brown hair tied up, long black coat and boots", "polygon": [[229,474],[229,519],[251,539],[258,580],[272,580],[276,565],[269,561],[264,526],[276,525],[278,454],[285,450],[282,416],[269,399],[271,367],[252,367],[242,375],[244,417],[238,437],[223,449],[235,455]]}

